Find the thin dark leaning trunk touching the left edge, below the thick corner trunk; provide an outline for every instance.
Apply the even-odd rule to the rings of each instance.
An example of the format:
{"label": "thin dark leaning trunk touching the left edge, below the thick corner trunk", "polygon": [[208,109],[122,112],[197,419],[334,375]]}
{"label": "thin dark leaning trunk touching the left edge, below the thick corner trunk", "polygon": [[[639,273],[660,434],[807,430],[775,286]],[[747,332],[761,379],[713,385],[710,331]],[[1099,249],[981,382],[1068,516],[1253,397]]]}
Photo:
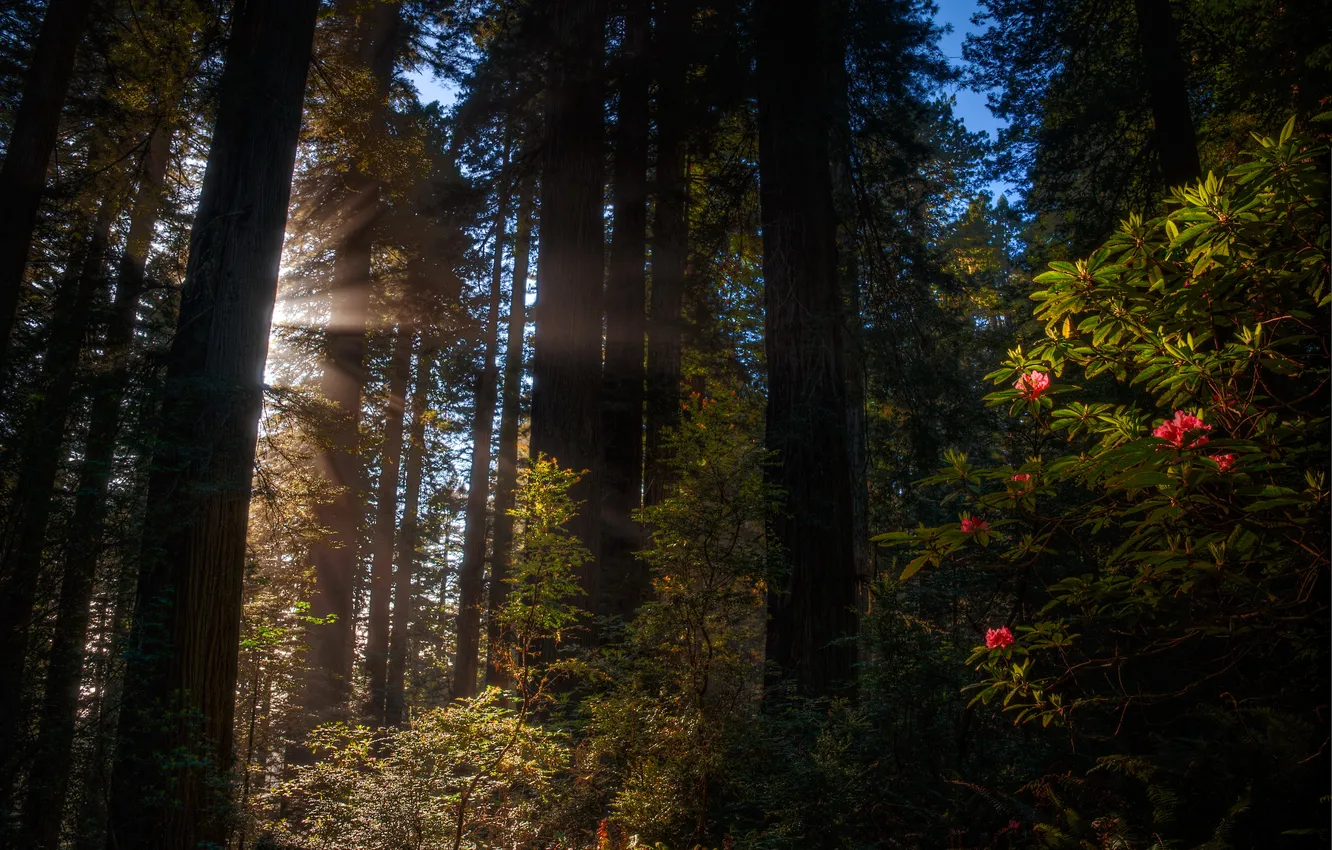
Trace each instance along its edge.
{"label": "thin dark leaning trunk touching the left edge, below the thick corner trunk", "polygon": [[0,562],[0,801],[7,802],[16,787],[28,751],[28,719],[24,713],[25,667],[29,632],[41,556],[47,546],[47,526],[56,501],[65,425],[75,405],[75,377],[79,354],[88,330],[88,316],[99,286],[111,225],[119,212],[112,195],[100,204],[91,232],[71,264],[77,269],[61,281],[51,320],[43,364],[41,398],[25,424],[19,457],[19,482],[7,517],[12,540],[5,541]]}

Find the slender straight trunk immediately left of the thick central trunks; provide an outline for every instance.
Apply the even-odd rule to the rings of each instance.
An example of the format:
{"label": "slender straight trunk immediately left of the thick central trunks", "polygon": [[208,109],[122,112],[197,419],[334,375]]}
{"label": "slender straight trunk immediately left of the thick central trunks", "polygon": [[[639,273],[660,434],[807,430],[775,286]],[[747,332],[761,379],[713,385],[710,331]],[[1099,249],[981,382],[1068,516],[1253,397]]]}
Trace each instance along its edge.
{"label": "slender straight trunk immediately left of the thick central trunks", "polygon": [[509,598],[509,565],[513,562],[513,510],[518,486],[518,422],[522,418],[523,333],[527,329],[527,270],[531,254],[530,179],[518,191],[518,220],[513,241],[513,284],[509,292],[509,337],[503,349],[503,398],[500,410],[500,457],[496,464],[496,522],[490,542],[490,594],[486,604],[486,685],[507,683],[496,653],[500,646],[500,612]]}

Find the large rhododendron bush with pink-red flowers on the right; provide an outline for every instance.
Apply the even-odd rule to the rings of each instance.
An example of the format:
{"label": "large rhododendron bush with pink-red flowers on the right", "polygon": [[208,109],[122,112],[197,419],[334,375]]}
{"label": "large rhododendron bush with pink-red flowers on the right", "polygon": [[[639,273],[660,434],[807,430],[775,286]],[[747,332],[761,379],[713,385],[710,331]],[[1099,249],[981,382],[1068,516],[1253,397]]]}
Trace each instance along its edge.
{"label": "large rhododendron bush with pink-red flowers on the right", "polygon": [[1051,846],[1094,846],[1078,806],[1116,825],[1095,846],[1323,826],[1327,149],[1291,128],[1036,277],[1044,337],[988,376],[1006,462],[950,454],[958,521],[880,538],[903,578],[1006,588],[974,702],[1071,745],[1026,789]]}

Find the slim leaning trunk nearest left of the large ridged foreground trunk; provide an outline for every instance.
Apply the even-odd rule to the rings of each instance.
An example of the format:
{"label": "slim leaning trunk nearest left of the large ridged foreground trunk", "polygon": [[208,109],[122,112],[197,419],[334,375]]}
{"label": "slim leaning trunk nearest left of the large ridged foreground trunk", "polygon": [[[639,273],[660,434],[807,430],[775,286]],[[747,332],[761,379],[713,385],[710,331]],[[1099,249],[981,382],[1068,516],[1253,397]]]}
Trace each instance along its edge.
{"label": "slim leaning trunk nearest left of the large ridged foreground trunk", "polygon": [[89,606],[103,526],[107,490],[120,429],[120,405],[129,380],[128,353],[135,317],[144,289],[144,268],[161,205],[163,181],[170,152],[170,131],[159,127],[148,141],[143,180],[129,214],[129,230],[116,274],[116,300],[107,326],[105,378],[96,389],[79,472],[73,518],[65,546],[65,570],[60,584],[55,637],[47,663],[45,699],[36,758],[40,771],[28,779],[24,829],[29,846],[55,850],[60,841],[60,817],[69,785],[79,689],[83,681],[84,646],[88,639]]}

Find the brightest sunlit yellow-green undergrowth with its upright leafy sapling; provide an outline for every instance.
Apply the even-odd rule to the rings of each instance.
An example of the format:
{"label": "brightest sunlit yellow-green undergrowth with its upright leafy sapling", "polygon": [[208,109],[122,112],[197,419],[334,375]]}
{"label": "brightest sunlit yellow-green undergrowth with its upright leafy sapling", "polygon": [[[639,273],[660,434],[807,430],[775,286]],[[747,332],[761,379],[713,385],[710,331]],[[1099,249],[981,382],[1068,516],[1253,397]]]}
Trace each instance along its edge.
{"label": "brightest sunlit yellow-green undergrowth with its upright leafy sapling", "polygon": [[531,722],[551,686],[578,669],[559,653],[585,613],[570,602],[587,550],[565,525],[578,474],[538,457],[523,469],[513,516],[518,556],[500,613],[496,657],[513,693],[492,687],[412,718],[405,729],[326,723],[320,755],[270,797],[274,834],[301,847],[541,846],[555,830],[566,737]]}

